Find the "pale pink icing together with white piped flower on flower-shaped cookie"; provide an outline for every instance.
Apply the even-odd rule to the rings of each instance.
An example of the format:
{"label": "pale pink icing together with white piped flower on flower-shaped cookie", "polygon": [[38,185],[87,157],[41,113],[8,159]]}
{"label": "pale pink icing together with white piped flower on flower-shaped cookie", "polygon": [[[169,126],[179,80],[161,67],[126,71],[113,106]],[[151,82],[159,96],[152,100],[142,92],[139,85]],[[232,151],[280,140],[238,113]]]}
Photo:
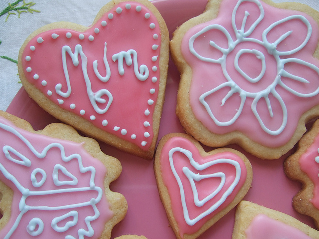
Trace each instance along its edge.
{"label": "pale pink icing together with white piped flower on flower-shaped cookie", "polygon": [[[231,20],[221,21],[222,17]],[[304,13],[270,7],[259,0],[223,1],[216,19],[192,28],[183,40],[182,52],[193,68],[191,105],[193,109],[204,107],[195,110],[196,118],[206,127],[214,123],[218,127],[231,126],[231,131],[243,130],[239,119],[241,124],[256,124],[260,134],[277,136],[284,130],[294,131],[296,126],[290,129],[287,125],[292,117],[287,102],[291,104],[291,98],[295,102],[319,93],[319,62],[312,56],[318,43],[318,29],[314,29],[313,22]],[[257,64],[256,70],[252,64]],[[297,72],[292,70],[296,66]],[[204,69],[200,67],[210,68],[209,72],[214,74],[203,75]],[[218,83],[209,88],[206,84],[209,81]],[[203,84],[207,91],[199,89]],[[201,93],[194,93],[195,88]],[[215,101],[211,100],[214,96]],[[217,109],[216,100],[221,101],[219,108],[227,107],[228,118],[222,116],[225,109]],[[229,109],[228,103],[237,106]],[[243,115],[248,114],[255,119],[244,121]],[[275,124],[269,123],[274,120]]]}

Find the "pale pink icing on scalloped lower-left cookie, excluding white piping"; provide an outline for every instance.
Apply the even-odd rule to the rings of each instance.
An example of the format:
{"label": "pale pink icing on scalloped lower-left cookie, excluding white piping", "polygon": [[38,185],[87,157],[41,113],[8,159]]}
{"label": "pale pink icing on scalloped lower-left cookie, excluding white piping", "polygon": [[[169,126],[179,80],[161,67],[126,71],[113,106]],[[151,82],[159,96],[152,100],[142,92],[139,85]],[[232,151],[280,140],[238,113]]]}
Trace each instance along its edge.
{"label": "pale pink icing on scalloped lower-left cookie, excluding white piping", "polygon": [[[23,200],[21,200],[22,194],[21,189],[18,190],[17,184],[15,181],[12,181],[12,177],[14,177],[17,182],[24,187],[25,189],[30,190],[30,192],[41,193],[44,191],[51,191],[52,190],[65,190],[66,192],[55,192],[49,195],[30,195],[26,197],[24,210],[25,213],[22,214],[20,221],[14,232],[12,233],[10,238],[34,238],[31,236],[26,228],[30,221],[33,218],[40,218],[44,224],[43,232],[40,234],[41,238],[64,238],[67,235],[72,235],[73,237],[77,238],[78,230],[83,228],[84,230],[88,230],[88,224],[86,224],[85,220],[88,220],[88,216],[94,216],[95,210],[94,207],[91,205],[82,205],[81,207],[69,207],[69,205],[74,204],[81,204],[84,202],[89,202],[91,199],[98,198],[98,191],[95,190],[94,187],[91,187],[91,190],[88,191],[78,191],[78,192],[69,192],[69,190],[77,190],[80,188],[88,188],[90,187],[90,180],[92,177],[92,172],[88,171],[87,169],[83,171],[81,169],[81,164],[83,167],[94,167],[96,173],[93,175],[93,182],[96,187],[100,187],[102,190],[102,198],[96,204],[97,210],[99,211],[100,215],[96,220],[89,222],[94,230],[93,238],[98,238],[102,231],[104,230],[105,223],[111,219],[113,216],[112,211],[109,209],[109,204],[105,196],[105,189],[104,189],[104,177],[106,175],[106,168],[105,166],[97,159],[93,158],[89,153],[87,153],[81,144],[77,144],[70,141],[59,140],[50,138],[47,136],[39,135],[30,133],[23,129],[17,128],[14,126],[10,121],[4,118],[0,118],[1,123],[1,147],[11,146],[14,150],[24,155],[31,161],[30,166],[20,165],[9,160],[4,154],[4,148],[1,150],[1,158],[0,158],[0,180],[3,181],[6,185],[8,185],[13,190],[13,201],[12,201],[12,211],[11,217],[6,226],[1,230],[0,237],[4,238],[5,235],[8,234],[9,230],[13,228],[16,222],[18,222],[18,218],[21,216],[21,209],[19,209],[19,205],[22,206]],[[30,147],[27,146],[25,142],[23,142],[20,137],[16,136],[5,129],[3,129],[2,125],[8,125],[10,127],[9,130],[16,130],[19,135],[22,135],[33,147],[36,151],[42,152],[48,145],[52,143],[59,143],[63,145],[65,150],[66,156],[71,156],[78,154],[81,157],[81,162],[78,162],[77,158],[74,156],[71,157],[69,161],[62,160],[61,151],[57,147],[53,147],[48,150],[47,154],[44,158],[39,158],[36,156]],[[22,162],[21,158],[15,155],[13,152],[10,155]],[[75,176],[78,179],[76,185],[69,185],[68,183],[56,186],[53,180],[53,168],[60,164],[62,167],[65,167],[66,170]],[[42,186],[35,187],[34,184],[31,182],[30,176],[33,170],[40,169],[44,170],[46,173],[46,180],[42,184]],[[7,178],[4,176],[6,170],[12,176]],[[82,172],[80,171],[82,170]],[[41,181],[42,176],[40,173],[35,174],[37,181]],[[68,174],[64,174],[60,169],[58,170],[58,179],[62,182],[65,181],[72,181],[72,178],[66,176]],[[92,182],[92,181],[91,181]],[[27,195],[27,194],[25,194]],[[21,200],[21,201],[20,201]],[[35,209],[35,208],[28,208],[28,207],[38,207],[38,206],[46,206],[50,207],[44,209]],[[65,207],[60,208],[57,210],[52,210],[54,207]],[[70,211],[77,211],[78,212],[78,220],[76,225],[73,225],[68,230],[64,232],[56,232],[51,227],[51,222],[54,218],[60,217],[69,213]],[[62,227],[66,224],[66,222],[72,221],[72,217],[67,217],[65,220],[62,220],[57,225]]]}

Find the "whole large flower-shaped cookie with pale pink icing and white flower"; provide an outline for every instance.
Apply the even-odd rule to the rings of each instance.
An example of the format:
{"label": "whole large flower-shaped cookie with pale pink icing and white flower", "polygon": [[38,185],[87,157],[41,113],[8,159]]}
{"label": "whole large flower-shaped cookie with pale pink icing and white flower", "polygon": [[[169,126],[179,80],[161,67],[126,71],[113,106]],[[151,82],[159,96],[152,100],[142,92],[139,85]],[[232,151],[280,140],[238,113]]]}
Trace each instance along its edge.
{"label": "whole large flower-shaped cookie with pale pink icing and white flower", "polygon": [[288,152],[319,115],[319,13],[270,0],[209,0],[171,41],[177,115],[212,147],[263,159]]}

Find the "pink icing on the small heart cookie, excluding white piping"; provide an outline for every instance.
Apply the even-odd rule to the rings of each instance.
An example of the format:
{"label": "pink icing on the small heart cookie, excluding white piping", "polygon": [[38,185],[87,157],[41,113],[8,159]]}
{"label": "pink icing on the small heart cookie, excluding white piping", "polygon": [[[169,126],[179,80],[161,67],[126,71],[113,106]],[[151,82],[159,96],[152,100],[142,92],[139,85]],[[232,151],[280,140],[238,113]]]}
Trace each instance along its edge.
{"label": "pink icing on the small heart cookie, excluding white piping", "polygon": [[[203,165],[207,162],[211,162],[221,158],[227,158],[227,159],[232,159],[237,161],[240,164],[240,168],[241,168],[241,175],[240,175],[239,182],[235,186],[232,193],[226,198],[226,200],[220,206],[218,206],[216,210],[214,210],[209,215],[199,220],[193,226],[189,226],[186,223],[185,218],[183,216],[180,189],[179,189],[177,180],[172,173],[172,168],[169,163],[168,153],[171,149],[175,147],[181,147],[183,149],[189,150],[192,153],[194,160],[200,165]],[[233,165],[228,163],[218,163],[218,164],[209,166],[205,168],[204,170],[197,170],[190,165],[189,159],[184,154],[177,153],[177,152],[173,154],[173,163],[174,163],[174,168],[183,184],[183,189],[185,192],[185,201],[188,208],[190,219],[194,219],[199,214],[203,213],[206,210],[209,210],[209,208],[212,207],[213,204],[221,200],[222,195],[225,193],[228,187],[230,187],[230,185],[234,182],[236,170]],[[166,144],[163,146],[161,151],[160,164],[161,164],[162,178],[163,178],[165,186],[168,188],[173,214],[179,226],[180,235],[182,237],[183,237],[183,234],[185,233],[192,234],[198,231],[200,227],[203,226],[204,223],[206,223],[209,219],[211,219],[218,212],[222,211],[229,203],[231,203],[246,180],[246,173],[247,173],[246,167],[244,162],[241,160],[239,156],[232,154],[230,152],[224,152],[224,153],[219,153],[213,156],[207,156],[203,158],[200,155],[198,149],[190,141],[182,137],[174,137],[169,139],[166,142]],[[208,175],[208,174],[222,172],[226,176],[225,185],[213,198],[207,201],[203,206],[198,207],[194,204],[193,192],[192,192],[189,180],[187,179],[187,177],[182,171],[183,167],[188,167],[192,172],[196,174],[199,173],[201,175],[204,175],[204,174]],[[196,188],[198,191],[199,200],[204,199],[209,194],[214,192],[214,190],[217,189],[219,183],[220,183],[220,179],[217,177],[202,179],[199,182],[196,182]]]}

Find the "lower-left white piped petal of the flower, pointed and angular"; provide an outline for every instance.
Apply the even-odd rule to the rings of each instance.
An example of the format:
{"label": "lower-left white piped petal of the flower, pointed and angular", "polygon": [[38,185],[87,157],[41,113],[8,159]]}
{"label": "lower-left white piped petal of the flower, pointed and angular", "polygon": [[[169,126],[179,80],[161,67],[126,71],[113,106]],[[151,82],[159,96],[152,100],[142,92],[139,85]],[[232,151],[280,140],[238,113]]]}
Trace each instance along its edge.
{"label": "lower-left white piped petal of the flower, pointed and angular", "polygon": [[[231,97],[236,97],[236,101],[237,102],[240,102],[240,105],[238,107],[237,110],[234,109],[234,116],[229,119],[228,121],[224,121],[224,122],[221,122],[219,121],[215,114],[213,113],[213,108],[216,108],[216,102],[215,104],[209,104],[208,103],[208,100],[206,100],[206,97],[208,96],[211,96],[215,93],[217,93],[219,90],[223,89],[223,88],[231,88],[230,91],[228,91],[228,94],[221,100],[221,107],[224,107],[225,110],[227,110],[227,112],[229,113],[230,112],[230,109],[227,107],[227,106],[224,106],[226,101],[231,98]],[[203,104],[203,106],[206,108],[206,111],[208,113],[208,115],[210,116],[210,118],[216,123],[216,125],[218,126],[229,126],[231,124],[233,124],[236,119],[240,116],[242,110],[243,110],[243,107],[244,107],[244,104],[245,104],[245,101],[246,101],[246,95],[245,94],[235,94],[235,93],[238,93],[237,90],[235,88],[233,88],[233,84],[231,82],[226,82],[226,83],[223,83],[221,85],[219,85],[218,87],[208,91],[208,92],[205,92],[204,94],[202,94],[199,98],[199,101],[201,102],[201,104]],[[240,99],[238,99],[238,97]],[[227,108],[227,109],[226,109]]]}

